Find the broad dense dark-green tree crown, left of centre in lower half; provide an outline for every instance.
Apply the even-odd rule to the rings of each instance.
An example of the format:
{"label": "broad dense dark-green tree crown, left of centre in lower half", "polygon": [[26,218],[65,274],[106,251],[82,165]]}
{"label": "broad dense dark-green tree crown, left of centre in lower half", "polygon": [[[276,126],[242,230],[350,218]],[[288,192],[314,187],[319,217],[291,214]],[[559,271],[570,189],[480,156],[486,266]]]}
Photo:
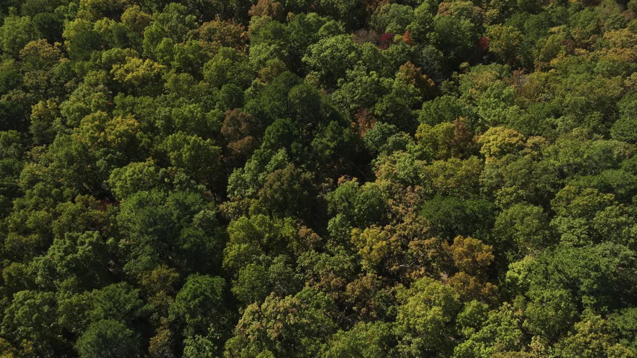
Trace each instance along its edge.
{"label": "broad dense dark-green tree crown, left of centre in lower half", "polygon": [[125,271],[141,275],[161,264],[185,272],[215,266],[222,236],[215,215],[214,205],[196,192],[155,188],[127,197],[117,214]]}

